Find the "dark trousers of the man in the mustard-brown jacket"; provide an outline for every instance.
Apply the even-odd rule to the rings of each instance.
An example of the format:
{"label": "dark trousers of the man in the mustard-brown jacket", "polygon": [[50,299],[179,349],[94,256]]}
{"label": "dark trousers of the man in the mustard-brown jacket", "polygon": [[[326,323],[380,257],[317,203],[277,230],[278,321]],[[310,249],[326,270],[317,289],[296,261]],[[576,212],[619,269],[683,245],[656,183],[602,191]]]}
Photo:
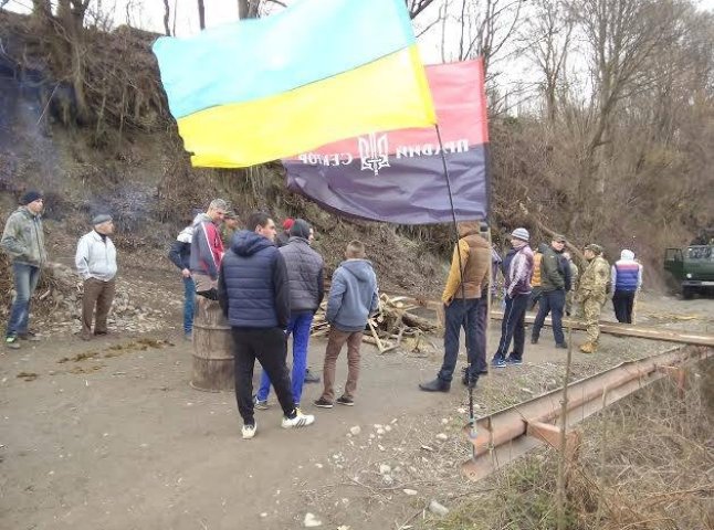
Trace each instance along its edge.
{"label": "dark trousers of the man in the mustard-brown jacket", "polygon": [[444,360],[437,375],[440,380],[449,383],[453,379],[462,327],[466,332],[466,351],[472,371],[475,374],[477,370],[486,369],[485,320],[480,321],[485,307],[485,299],[470,298],[455,299],[444,308]]}

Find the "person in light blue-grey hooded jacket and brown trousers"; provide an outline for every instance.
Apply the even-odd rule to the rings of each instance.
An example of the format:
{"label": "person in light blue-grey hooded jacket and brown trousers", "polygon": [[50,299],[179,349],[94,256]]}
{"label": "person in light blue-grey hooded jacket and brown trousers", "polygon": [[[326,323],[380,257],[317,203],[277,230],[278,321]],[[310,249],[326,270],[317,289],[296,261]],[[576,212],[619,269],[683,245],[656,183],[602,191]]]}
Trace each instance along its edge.
{"label": "person in light blue-grey hooded jacket and brown trousers", "polygon": [[345,253],[347,258],[339,264],[329,288],[325,318],[330,324],[325,350],[323,369],[323,395],[315,406],[333,407],[335,398],[335,364],[345,342],[347,342],[347,383],[345,392],[337,398],[340,405],[354,405],[357,379],[359,378],[359,347],[367,319],[379,307],[377,276],[371,263],[365,259],[365,245],[350,241]]}

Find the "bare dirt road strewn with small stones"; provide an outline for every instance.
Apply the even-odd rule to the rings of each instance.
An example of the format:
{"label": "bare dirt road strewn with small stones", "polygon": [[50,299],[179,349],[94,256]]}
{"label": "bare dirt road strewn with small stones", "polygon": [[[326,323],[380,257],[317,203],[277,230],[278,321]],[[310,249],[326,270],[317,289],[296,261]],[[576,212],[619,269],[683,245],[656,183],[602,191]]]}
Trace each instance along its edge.
{"label": "bare dirt road strewn with small stones", "polygon": [[[711,332],[713,305],[653,298],[641,312],[650,325]],[[364,344],[356,406],[315,409],[321,385],[306,385],[313,427],[280,428],[272,396],[272,407],[258,412],[256,437],[243,441],[233,394],[189,386],[190,343],[174,330],[23,346],[0,357],[1,528],[292,529],[307,512],[323,528],[395,528],[416,523],[430,499],[448,505],[474,487],[458,470],[469,456],[458,432],[463,388],[417,390],[435,374],[437,356],[378,356]],[[545,330],[523,367],[483,378],[477,414],[559,385],[564,354],[552,346]],[[672,346],[605,337],[599,353],[576,356],[575,372]],[[324,348],[317,339],[309,351],[318,371]]]}

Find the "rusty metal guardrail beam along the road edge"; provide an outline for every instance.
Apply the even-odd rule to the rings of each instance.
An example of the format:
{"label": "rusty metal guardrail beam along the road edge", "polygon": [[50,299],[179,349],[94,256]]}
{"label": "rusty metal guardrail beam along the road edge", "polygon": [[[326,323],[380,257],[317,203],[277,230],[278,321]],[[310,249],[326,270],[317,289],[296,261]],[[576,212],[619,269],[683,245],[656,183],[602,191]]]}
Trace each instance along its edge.
{"label": "rusty metal guardrail beam along the road edge", "polygon": [[[692,347],[673,348],[663,353],[617,367],[575,381],[568,385],[567,426],[575,425],[648,384],[683,370],[685,364],[714,356],[714,349]],[[679,373],[682,372],[676,372]],[[679,383],[679,381],[678,381]],[[463,431],[474,446],[474,458],[464,463],[462,470],[472,480],[479,480],[517,458],[543,441],[552,443],[557,427],[544,427],[560,416],[563,389],[554,390],[518,405],[504,409],[476,421],[476,434],[466,424]],[[556,430],[556,431],[554,431]],[[573,442],[575,444],[575,442]],[[555,442],[555,446],[559,442]]]}

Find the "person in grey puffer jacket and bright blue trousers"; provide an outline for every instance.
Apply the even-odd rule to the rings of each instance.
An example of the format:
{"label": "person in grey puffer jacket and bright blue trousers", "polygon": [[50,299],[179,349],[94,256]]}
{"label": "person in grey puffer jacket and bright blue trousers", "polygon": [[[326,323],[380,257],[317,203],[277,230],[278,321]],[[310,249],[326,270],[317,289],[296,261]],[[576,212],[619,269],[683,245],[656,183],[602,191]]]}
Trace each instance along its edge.
{"label": "person in grey puffer jacket and bright blue trousers", "polygon": [[[300,405],[303,394],[307,365],[307,344],[309,327],[315,311],[323,301],[325,282],[323,256],[311,248],[309,237],[313,229],[307,221],[296,219],[290,229],[287,244],[280,247],[285,258],[290,283],[290,322],[287,335],[293,336],[293,399],[295,406]],[[261,377],[261,386],[255,394],[255,409],[267,409],[270,378],[265,370]]]}

